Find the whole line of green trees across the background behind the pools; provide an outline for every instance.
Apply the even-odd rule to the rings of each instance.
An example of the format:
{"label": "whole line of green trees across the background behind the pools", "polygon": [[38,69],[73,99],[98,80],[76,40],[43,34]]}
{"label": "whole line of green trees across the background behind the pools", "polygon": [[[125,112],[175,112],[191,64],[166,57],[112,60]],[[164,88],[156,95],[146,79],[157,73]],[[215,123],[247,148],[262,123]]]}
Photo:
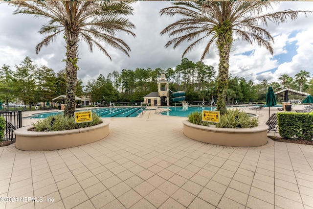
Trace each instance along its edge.
{"label": "whole line of green trees across the background behind the pools", "polygon": [[[217,98],[216,70],[202,62],[193,62],[183,58],[175,69],[162,70],[156,68],[114,70],[107,77],[100,74],[97,79],[83,81],[78,79],[76,96],[89,96],[92,104],[104,105],[111,102],[141,102],[143,97],[151,92],[157,92],[157,81],[160,74],[165,73],[172,91],[185,91],[186,101],[210,101]],[[24,104],[37,104],[66,94],[66,72],[54,70],[33,64],[29,57],[25,57],[21,64],[11,67],[3,65],[0,70],[0,100],[4,103],[23,101]],[[268,87],[274,91],[291,88],[298,91],[313,93],[313,79],[306,70],[300,70],[294,77],[283,74],[278,82],[263,80],[259,84],[243,77],[229,74],[226,102],[235,103],[249,101],[264,102]],[[292,98],[292,97],[291,97]]]}

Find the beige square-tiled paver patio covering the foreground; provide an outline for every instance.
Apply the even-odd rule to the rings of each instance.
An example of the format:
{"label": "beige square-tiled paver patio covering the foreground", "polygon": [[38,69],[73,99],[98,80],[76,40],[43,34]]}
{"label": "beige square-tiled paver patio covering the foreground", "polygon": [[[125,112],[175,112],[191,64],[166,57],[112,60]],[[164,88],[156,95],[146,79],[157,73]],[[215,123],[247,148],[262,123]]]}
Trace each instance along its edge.
{"label": "beige square-tiled paver patio covering the foreground", "polygon": [[183,135],[185,119],[151,110],[107,119],[110,135],[84,146],[0,147],[0,208],[313,208],[313,146],[205,144]]}

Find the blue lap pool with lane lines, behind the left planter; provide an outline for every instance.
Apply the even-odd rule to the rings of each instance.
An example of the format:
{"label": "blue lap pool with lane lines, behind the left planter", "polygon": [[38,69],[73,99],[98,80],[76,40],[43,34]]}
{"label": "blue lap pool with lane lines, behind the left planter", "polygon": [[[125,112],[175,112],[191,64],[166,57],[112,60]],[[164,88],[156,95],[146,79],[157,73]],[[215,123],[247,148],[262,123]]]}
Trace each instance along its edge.
{"label": "blue lap pool with lane lines, behind the left planter", "polygon": [[[115,107],[115,108],[96,108],[90,109],[93,113],[100,117],[136,117],[142,113],[145,108],[141,107]],[[82,110],[84,111],[84,110]],[[38,113],[29,117],[23,118],[46,118],[48,116],[55,116],[63,114],[63,112]]]}

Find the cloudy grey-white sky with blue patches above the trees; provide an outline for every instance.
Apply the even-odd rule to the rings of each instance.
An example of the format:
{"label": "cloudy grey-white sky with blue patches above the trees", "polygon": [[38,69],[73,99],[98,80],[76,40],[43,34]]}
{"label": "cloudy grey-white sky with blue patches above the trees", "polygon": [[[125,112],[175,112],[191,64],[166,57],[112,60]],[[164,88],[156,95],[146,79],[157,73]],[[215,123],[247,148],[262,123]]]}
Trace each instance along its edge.
{"label": "cloudy grey-white sky with blue patches above the trees", "polygon": [[[107,46],[112,61],[94,48],[90,53],[87,45],[79,44],[78,78],[86,85],[89,80],[96,79],[99,74],[107,76],[113,70],[121,72],[123,69],[136,68],[175,68],[180,64],[181,55],[187,44],[165,48],[169,41],[167,35],[160,36],[160,31],[175,19],[166,16],[160,17],[160,9],[170,6],[169,1],[136,1],[135,14],[130,20],[135,24],[133,31],[136,38],[130,35],[119,34],[130,47],[130,57],[121,51]],[[273,11],[286,9],[313,10],[313,2],[283,1],[274,6]],[[43,47],[38,55],[35,46],[44,38],[38,34],[44,20],[34,19],[30,15],[12,15],[14,7],[6,3],[0,4],[0,67],[20,65],[22,60],[29,56],[38,67],[45,65],[55,72],[65,69],[65,41],[58,37],[48,47]],[[178,19],[178,18],[177,18]],[[313,13],[307,18],[300,14],[296,21],[268,25],[267,29],[275,39],[274,55],[263,47],[251,46],[245,42],[236,41],[233,44],[229,72],[233,76],[252,79],[255,83],[267,79],[269,82],[278,81],[282,74],[294,76],[300,70],[307,70],[313,75]],[[186,58],[193,62],[199,61],[203,49],[201,46],[186,54]],[[210,51],[204,63],[212,65],[217,70],[219,58],[216,48]]]}

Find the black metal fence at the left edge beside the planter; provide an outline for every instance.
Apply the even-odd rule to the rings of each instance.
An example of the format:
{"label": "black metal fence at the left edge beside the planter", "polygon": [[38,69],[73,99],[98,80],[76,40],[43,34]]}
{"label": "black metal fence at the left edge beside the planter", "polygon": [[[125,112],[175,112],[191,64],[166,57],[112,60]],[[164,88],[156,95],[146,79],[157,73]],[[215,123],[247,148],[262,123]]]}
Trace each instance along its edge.
{"label": "black metal fence at the left edge beside the planter", "polygon": [[4,117],[5,120],[3,140],[15,140],[14,130],[22,127],[22,111],[0,112],[0,116]]}

